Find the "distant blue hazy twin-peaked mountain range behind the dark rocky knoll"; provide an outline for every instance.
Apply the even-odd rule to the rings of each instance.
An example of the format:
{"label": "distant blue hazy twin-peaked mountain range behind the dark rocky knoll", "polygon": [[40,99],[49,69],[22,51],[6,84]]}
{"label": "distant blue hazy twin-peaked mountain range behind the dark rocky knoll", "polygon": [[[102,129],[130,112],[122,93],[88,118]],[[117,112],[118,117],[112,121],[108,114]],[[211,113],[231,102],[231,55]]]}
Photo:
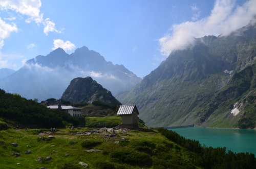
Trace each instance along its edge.
{"label": "distant blue hazy twin-peaked mountain range behind the dark rocky knoll", "polygon": [[0,80],[0,88],[27,99],[46,100],[60,98],[72,79],[87,76],[113,94],[141,81],[123,65],[107,62],[99,53],[83,46],[70,55],[59,48],[47,56],[28,60],[24,67]]}

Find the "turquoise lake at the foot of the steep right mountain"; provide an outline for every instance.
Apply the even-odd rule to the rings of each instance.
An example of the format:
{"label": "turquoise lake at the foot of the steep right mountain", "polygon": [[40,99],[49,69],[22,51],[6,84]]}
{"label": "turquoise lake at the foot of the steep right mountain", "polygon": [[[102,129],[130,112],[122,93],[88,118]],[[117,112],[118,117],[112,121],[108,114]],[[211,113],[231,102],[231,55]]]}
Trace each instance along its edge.
{"label": "turquoise lake at the foot of the steep right mountain", "polygon": [[226,147],[226,150],[232,152],[249,152],[256,156],[256,130],[196,127],[169,130],[176,131],[185,138],[199,140],[207,147]]}

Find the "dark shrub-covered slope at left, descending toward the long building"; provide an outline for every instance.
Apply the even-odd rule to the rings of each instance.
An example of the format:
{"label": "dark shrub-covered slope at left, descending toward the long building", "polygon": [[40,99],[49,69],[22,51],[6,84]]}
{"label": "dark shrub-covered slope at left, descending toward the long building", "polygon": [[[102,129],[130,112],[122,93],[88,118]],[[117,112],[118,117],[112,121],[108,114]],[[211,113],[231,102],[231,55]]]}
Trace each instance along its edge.
{"label": "dark shrub-covered slope at left, descending toward the long building", "polygon": [[22,98],[19,94],[6,93],[0,89],[0,118],[19,127],[63,128],[78,125],[69,113],[48,109],[36,101]]}

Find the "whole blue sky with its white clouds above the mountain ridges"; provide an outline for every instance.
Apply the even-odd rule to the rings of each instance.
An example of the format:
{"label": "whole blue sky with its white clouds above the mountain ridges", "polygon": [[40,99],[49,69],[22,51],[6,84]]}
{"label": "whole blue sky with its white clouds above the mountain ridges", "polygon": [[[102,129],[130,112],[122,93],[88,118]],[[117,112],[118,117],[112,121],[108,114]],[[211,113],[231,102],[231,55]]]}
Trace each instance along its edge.
{"label": "whole blue sky with its white clouds above the mountain ridges", "polygon": [[0,68],[87,46],[142,78],[194,37],[228,35],[255,14],[256,0],[0,0]]}

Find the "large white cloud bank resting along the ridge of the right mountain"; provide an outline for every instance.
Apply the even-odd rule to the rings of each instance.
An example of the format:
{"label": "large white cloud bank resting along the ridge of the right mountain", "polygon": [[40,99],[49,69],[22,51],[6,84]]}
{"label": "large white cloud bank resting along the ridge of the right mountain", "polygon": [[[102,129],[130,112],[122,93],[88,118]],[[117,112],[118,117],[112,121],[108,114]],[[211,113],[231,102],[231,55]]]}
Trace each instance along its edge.
{"label": "large white cloud bank resting along the ridge of the right mountain", "polygon": [[[196,9],[194,7],[194,10]],[[217,0],[210,16],[173,25],[169,32],[159,39],[160,51],[162,55],[168,56],[173,50],[182,50],[193,44],[195,37],[228,35],[245,26],[255,14],[256,0],[249,0],[242,6],[237,6],[234,0]]]}

